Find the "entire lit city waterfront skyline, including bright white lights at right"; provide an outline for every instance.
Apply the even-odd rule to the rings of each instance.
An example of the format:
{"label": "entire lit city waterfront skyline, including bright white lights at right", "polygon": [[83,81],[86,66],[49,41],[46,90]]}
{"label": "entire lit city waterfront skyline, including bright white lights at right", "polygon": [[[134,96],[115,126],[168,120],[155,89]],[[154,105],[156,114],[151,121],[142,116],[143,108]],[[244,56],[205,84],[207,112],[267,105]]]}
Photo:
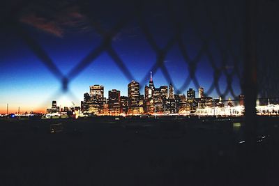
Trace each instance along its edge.
{"label": "entire lit city waterfront skyline, including bright white lights at right", "polygon": [[[244,96],[234,102],[222,98],[213,99],[204,94],[204,88],[199,87],[198,98],[196,91],[189,88],[185,94],[175,94],[172,84],[156,88],[152,72],[149,85],[144,86],[144,95],[140,94],[140,84],[132,81],[128,84],[128,96],[121,96],[121,91],[108,91],[104,96],[103,85],[89,87],[89,93],[84,93],[81,107],[59,108],[56,101],[52,108],[47,109],[45,118],[79,118],[84,116],[243,116],[245,113]],[[234,105],[236,104],[236,105]],[[278,115],[279,105],[268,104],[257,106],[258,115]]]}

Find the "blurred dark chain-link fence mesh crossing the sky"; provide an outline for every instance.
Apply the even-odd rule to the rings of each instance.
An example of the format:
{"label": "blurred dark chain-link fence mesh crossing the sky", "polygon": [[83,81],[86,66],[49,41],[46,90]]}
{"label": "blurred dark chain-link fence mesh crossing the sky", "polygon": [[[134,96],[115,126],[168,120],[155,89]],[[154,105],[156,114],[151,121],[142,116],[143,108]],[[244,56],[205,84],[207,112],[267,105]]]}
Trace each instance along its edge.
{"label": "blurred dark chain-link fence mesh crossing the sky", "polygon": [[[244,51],[246,51],[245,49],[247,48],[245,45],[245,31],[247,30],[247,22],[245,22],[247,17],[245,2],[248,2],[249,6],[250,1],[197,1],[195,3],[190,1],[157,1],[156,3],[150,3],[148,1],[123,1],[119,2],[118,5],[119,7],[123,5],[126,6],[126,8],[119,9],[124,12],[127,10],[126,16],[116,16],[119,20],[114,22],[114,25],[110,27],[110,29],[107,29],[103,24],[98,22],[98,16],[92,11],[91,6],[93,6],[94,3],[90,3],[89,1],[66,1],[66,3],[55,3],[55,1],[50,1],[46,4],[54,3],[55,6],[62,7],[78,6],[80,8],[80,13],[87,17],[90,26],[102,38],[100,45],[92,49],[89,54],[84,56],[84,58],[66,74],[58,68],[56,62],[51,59],[40,43],[31,36],[29,31],[27,31],[20,22],[20,15],[24,8],[28,7],[31,3],[38,5],[45,2],[29,1],[27,3],[24,1],[18,1],[15,4],[10,3],[10,7],[2,13],[2,24],[5,25],[3,30],[5,30],[5,27],[13,27],[17,36],[26,43],[33,54],[40,59],[48,70],[50,70],[50,73],[61,82],[61,90],[59,90],[56,95],[69,93],[70,96],[74,97],[73,93],[70,92],[69,83],[84,72],[91,63],[94,63],[98,56],[107,53],[129,82],[132,79],[136,79],[140,82],[140,85],[143,85],[148,81],[150,71],[152,71],[153,74],[156,74],[158,70],[161,70],[166,81],[172,82],[174,90],[176,90],[177,93],[185,92],[186,88],[188,88],[191,83],[196,89],[198,89],[201,84],[196,73],[197,67],[201,63],[209,63],[212,68],[211,73],[213,74],[213,79],[211,80],[209,88],[205,90],[205,95],[210,95],[213,91],[216,91],[216,93],[222,98],[230,95],[234,100],[238,100],[239,92],[235,90],[235,84],[233,82],[239,81],[237,84],[239,84],[241,89],[240,93],[243,93],[243,86],[246,84],[244,79],[246,77],[247,69],[244,70],[243,66],[243,64],[247,63],[244,54]],[[105,3],[107,3],[107,7],[111,6],[109,2]],[[261,1],[260,6],[272,6],[273,3],[277,2]],[[164,9],[162,9],[165,11],[164,14],[167,17],[167,20],[164,21],[169,22],[170,25],[172,25],[170,29],[172,29],[173,34],[172,36],[167,37],[169,40],[167,40],[163,47],[156,42],[154,37],[156,33],[152,32],[149,24],[149,17],[146,16],[148,15],[148,11],[150,11],[149,6],[151,4],[155,5],[155,7],[160,5],[157,7],[157,10],[160,10],[160,8],[163,7]],[[98,6],[98,4],[96,3],[95,6]],[[154,12],[157,10],[155,9]],[[256,17],[255,19],[257,19],[255,22],[264,21],[263,19],[259,19],[259,17]],[[8,20],[8,23],[6,20]],[[121,59],[121,56],[116,52],[116,49],[112,45],[114,37],[121,32],[121,29],[124,29],[131,22],[139,26],[140,31],[143,33],[144,40],[148,42],[151,49],[153,49],[154,54],[156,54],[156,61],[153,61],[152,67],[146,70],[146,75],[143,79],[137,79],[133,76],[133,73],[130,72],[127,66],[129,63],[125,63],[123,59]],[[195,38],[201,43],[199,49],[195,51],[195,56],[189,54],[191,49],[186,43],[189,37],[193,37],[186,36],[185,34],[189,28],[193,30]],[[276,31],[273,32],[276,33]],[[264,33],[262,36],[265,37],[266,35],[268,35],[268,33]],[[264,37],[258,37],[259,40],[261,40],[259,42],[261,45],[258,47],[260,52],[264,51],[263,48],[266,47],[266,45],[270,45],[269,42],[265,42]],[[172,80],[164,63],[167,54],[169,54],[169,51],[174,45],[178,47],[181,56],[183,56],[183,63],[186,63],[187,65],[185,71],[188,72],[188,77],[183,79],[182,86],[177,86],[176,82]],[[211,49],[213,46],[216,48],[214,52]],[[278,44],[276,46],[276,49],[278,50]],[[274,48],[272,49],[275,51]],[[276,54],[278,54],[278,52]],[[220,58],[216,56],[220,56]],[[207,59],[206,62],[203,61],[203,57]],[[260,55],[258,58],[261,61],[272,61],[272,63],[258,64],[259,73],[257,76],[257,83],[262,86],[259,95],[264,98],[270,96],[276,98],[278,84],[274,86],[273,80],[271,81],[266,74],[273,70],[274,65],[277,66],[278,64],[272,55]],[[255,63],[253,65],[255,65]],[[274,77],[274,80],[276,81],[278,76]],[[220,88],[220,79],[225,79],[225,88]]]}

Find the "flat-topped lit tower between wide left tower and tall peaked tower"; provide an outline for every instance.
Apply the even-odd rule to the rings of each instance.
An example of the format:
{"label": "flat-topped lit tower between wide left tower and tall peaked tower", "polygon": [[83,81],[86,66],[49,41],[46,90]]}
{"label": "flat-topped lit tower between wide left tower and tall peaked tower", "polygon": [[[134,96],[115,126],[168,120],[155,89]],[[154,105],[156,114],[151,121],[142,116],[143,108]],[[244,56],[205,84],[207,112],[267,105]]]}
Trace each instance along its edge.
{"label": "flat-topped lit tower between wide left tower and tall peaked tower", "polygon": [[110,115],[116,116],[120,114],[120,91],[117,91],[116,89],[109,91],[108,105]]}

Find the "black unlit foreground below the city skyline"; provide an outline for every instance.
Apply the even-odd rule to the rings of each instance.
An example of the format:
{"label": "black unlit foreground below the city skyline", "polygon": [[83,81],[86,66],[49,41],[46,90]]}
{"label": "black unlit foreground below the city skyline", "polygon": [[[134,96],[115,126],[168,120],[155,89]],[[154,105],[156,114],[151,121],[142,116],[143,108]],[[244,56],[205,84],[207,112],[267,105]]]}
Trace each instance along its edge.
{"label": "black unlit foreground below the city skyline", "polygon": [[2,120],[0,185],[279,185],[278,118],[252,150],[232,123]]}

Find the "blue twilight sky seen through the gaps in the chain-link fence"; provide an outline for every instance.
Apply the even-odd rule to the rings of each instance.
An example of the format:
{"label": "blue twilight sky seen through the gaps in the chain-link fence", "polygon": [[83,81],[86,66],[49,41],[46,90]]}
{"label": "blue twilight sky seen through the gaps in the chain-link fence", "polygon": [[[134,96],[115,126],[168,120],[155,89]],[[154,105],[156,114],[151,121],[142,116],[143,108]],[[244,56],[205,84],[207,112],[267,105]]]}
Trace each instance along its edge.
{"label": "blue twilight sky seen through the gaps in the chain-link fence", "polygon": [[[52,4],[50,3],[50,5]],[[70,3],[70,8],[65,8],[62,5],[61,7],[56,7],[57,10],[52,10],[50,5],[41,3],[40,6],[45,8],[45,12],[40,13],[40,6],[37,5],[38,8],[31,4],[27,6],[27,8],[23,8],[22,14],[17,17],[17,20],[20,20],[20,26],[22,26],[34,40],[38,41],[63,75],[66,75],[77,63],[80,63],[80,61],[84,59],[84,56],[100,45],[102,37],[95,28],[92,28],[90,24],[91,15],[87,16],[86,13],[88,10],[80,4],[74,1],[74,3]],[[212,25],[209,23],[208,17],[206,18],[206,14],[204,13],[205,5],[199,3],[197,3],[197,5],[192,5],[195,19],[186,16],[188,14],[184,12],[188,10],[187,8],[179,10],[182,5],[182,2],[178,2],[176,6],[174,6],[174,8],[178,8],[174,16],[176,20],[183,24],[183,33],[181,35],[183,38],[181,39],[186,46],[190,59],[193,59],[202,47],[202,38],[211,36]],[[224,19],[224,17],[220,16],[223,15],[223,12],[218,12],[221,7],[216,7],[214,3],[210,5],[213,20],[217,21],[216,36],[218,36],[218,42],[208,39],[208,50],[213,56],[214,63],[216,63],[219,68],[223,60],[222,54],[228,54],[225,68],[231,72],[235,67],[232,62],[233,57],[231,53],[239,58],[237,63],[241,64],[241,52],[239,52],[241,49],[241,42],[239,40],[241,39],[234,39],[240,37],[241,28],[234,28],[235,30],[233,32],[231,29],[233,29],[235,24],[230,21],[228,22],[228,20],[237,20],[241,18],[237,17],[235,14],[226,13],[225,15],[227,15],[227,18]],[[74,8],[71,8],[71,6]],[[114,5],[110,6],[110,8],[107,8],[107,6],[104,8],[104,6],[105,5],[98,4],[98,6],[93,7],[97,8],[94,14],[94,16],[96,15],[96,20],[105,29],[110,29],[116,20],[121,20],[122,17],[126,17],[130,15],[130,13],[133,13],[133,8],[125,8],[125,6],[119,4],[117,4],[117,6],[121,6],[121,8],[116,8]],[[132,7],[133,4],[126,4],[126,6]],[[167,13],[168,9],[166,4],[154,1],[154,3],[144,4],[144,8],[144,22],[146,22],[157,45],[159,47],[164,47],[170,38],[176,36],[173,22]],[[235,13],[234,10],[231,10],[231,12]],[[218,15],[218,13],[220,15]],[[68,18],[69,15],[72,16],[72,19]],[[232,41],[229,44],[227,44],[226,40],[227,33],[232,34]],[[199,34],[202,35],[199,36]],[[218,43],[223,48],[230,46],[230,52],[226,50],[224,50],[225,52],[223,53],[220,52]],[[136,18],[130,20],[130,22],[114,36],[112,47],[122,59],[131,75],[133,75],[138,82],[142,82],[142,79],[156,63],[156,52],[154,52],[150,43],[146,40],[146,36],[144,36],[141,25],[138,24]],[[7,26],[7,29],[4,31],[1,31],[0,49],[0,111],[2,112],[6,109],[6,103],[10,104],[10,109],[12,110],[17,110],[17,107],[22,107],[22,111],[45,111],[47,107],[50,107],[52,100],[58,100],[58,104],[62,106],[70,106],[71,101],[80,105],[80,101],[83,100],[83,94],[88,92],[89,86],[93,84],[105,86],[105,97],[107,97],[107,92],[112,88],[120,90],[121,95],[127,95],[127,85],[133,80],[127,79],[112,60],[111,56],[108,55],[107,52],[103,52],[77,77],[69,77],[69,90],[75,95],[72,96],[69,93],[60,91],[61,82],[59,82],[40,59],[38,59],[26,42],[18,36],[17,31],[10,29],[9,26]],[[172,78],[172,84],[180,88],[188,77],[189,71],[188,65],[181,55],[177,42],[174,42],[174,45],[168,50],[163,62]],[[203,54],[197,63],[195,75],[200,86],[204,87],[205,91],[209,90],[209,86],[211,86],[213,82],[213,74],[214,71],[208,56]],[[169,84],[169,81],[165,79],[161,70],[153,73],[153,81],[156,87]],[[145,82],[148,84],[148,79],[146,79]],[[222,92],[225,91],[225,86],[227,84],[224,75],[221,76],[219,85],[220,90]],[[239,93],[241,93],[239,78],[234,76],[232,85],[234,93],[239,95]],[[141,86],[144,86],[144,84],[141,84]],[[191,82],[181,93],[186,93],[186,89],[188,88],[196,89],[193,82]],[[143,93],[143,89],[141,93]],[[210,95],[213,96],[213,98],[219,96],[215,90],[212,91]],[[229,97],[232,97],[230,93],[227,94],[226,98]]]}

